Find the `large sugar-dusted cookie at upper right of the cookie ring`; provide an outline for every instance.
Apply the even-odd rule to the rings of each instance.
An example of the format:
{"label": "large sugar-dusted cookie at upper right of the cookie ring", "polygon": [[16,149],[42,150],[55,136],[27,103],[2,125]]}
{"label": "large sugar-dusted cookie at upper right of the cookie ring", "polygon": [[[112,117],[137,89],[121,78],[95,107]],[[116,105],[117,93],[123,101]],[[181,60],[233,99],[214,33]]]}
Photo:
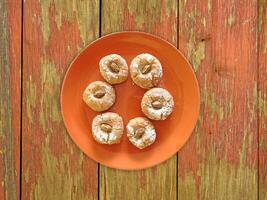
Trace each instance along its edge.
{"label": "large sugar-dusted cookie at upper right of the cookie ring", "polygon": [[144,89],[157,86],[163,75],[159,60],[148,53],[140,54],[132,60],[130,73],[133,82]]}

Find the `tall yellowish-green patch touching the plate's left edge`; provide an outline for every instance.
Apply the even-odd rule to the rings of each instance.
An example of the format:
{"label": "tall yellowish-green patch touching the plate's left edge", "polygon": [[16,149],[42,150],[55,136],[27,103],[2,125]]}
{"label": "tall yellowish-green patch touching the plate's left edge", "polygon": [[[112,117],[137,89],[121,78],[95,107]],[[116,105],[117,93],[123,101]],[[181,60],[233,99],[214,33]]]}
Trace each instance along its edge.
{"label": "tall yellowish-green patch touching the plate's left edge", "polygon": [[43,58],[41,61],[41,111],[40,123],[44,131],[52,131],[51,122],[61,122],[59,110],[60,74],[54,63]]}

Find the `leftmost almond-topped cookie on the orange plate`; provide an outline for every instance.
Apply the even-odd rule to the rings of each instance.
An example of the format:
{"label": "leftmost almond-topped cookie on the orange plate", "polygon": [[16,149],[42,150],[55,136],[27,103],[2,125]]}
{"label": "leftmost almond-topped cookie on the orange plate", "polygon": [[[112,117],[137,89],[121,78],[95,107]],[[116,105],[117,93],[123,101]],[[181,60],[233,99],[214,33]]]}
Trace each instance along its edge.
{"label": "leftmost almond-topped cookie on the orange plate", "polygon": [[115,90],[103,81],[90,83],[83,93],[83,101],[94,111],[105,111],[115,102]]}

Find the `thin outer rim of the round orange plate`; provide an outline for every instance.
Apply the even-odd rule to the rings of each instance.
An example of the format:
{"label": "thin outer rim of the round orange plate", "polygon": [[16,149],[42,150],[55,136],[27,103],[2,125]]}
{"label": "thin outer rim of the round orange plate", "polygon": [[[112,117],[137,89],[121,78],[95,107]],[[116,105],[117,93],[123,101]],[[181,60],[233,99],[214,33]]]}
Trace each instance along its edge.
{"label": "thin outer rim of the round orange plate", "polygon": [[[174,153],[170,153],[169,156],[166,156],[164,159],[159,159],[158,162],[155,162],[155,163],[152,163],[152,164],[149,164],[149,165],[146,165],[146,166],[141,166],[141,167],[118,167],[118,166],[114,166],[114,165],[110,165],[110,164],[106,164],[106,163],[103,163],[95,158],[92,158],[90,155],[88,155],[86,152],[83,151],[83,149],[80,147],[79,144],[77,144],[74,140],[74,138],[72,137],[72,134],[70,133],[70,130],[67,126],[67,123],[66,123],[66,119],[64,117],[64,112],[63,112],[63,89],[64,89],[64,85],[65,85],[65,82],[66,82],[66,78],[69,74],[69,71],[71,69],[71,66],[73,65],[73,63],[79,58],[79,56],[87,49],[89,48],[90,46],[94,45],[95,43],[97,43],[98,41],[106,38],[106,37],[110,37],[110,36],[113,36],[113,35],[121,35],[121,34],[139,34],[141,36],[149,36],[149,37],[152,37],[156,40],[160,40],[161,42],[164,42],[164,43],[167,43],[172,49],[174,49],[175,51],[177,51],[182,57],[183,59],[185,60],[185,62],[188,64],[189,68],[190,68],[190,71],[192,72],[192,75],[193,75],[193,79],[194,79],[194,82],[196,84],[196,97],[197,97],[197,116],[193,122],[193,126],[190,130],[190,133],[188,134],[188,137],[185,141],[185,143],[179,148],[176,150],[176,152]],[[61,89],[60,89],[60,113],[61,113],[61,116],[62,116],[62,119],[63,119],[63,123],[64,123],[64,127],[65,129],[67,130],[68,132],[68,135],[70,136],[72,142],[80,149],[80,151],[85,154],[87,157],[89,157],[91,160],[93,160],[94,162],[96,163],[99,163],[103,166],[107,166],[107,167],[110,167],[110,168],[113,168],[113,169],[119,169],[119,170],[125,170],[125,171],[135,171],[135,170],[141,170],[141,169],[147,169],[147,168],[151,168],[151,167],[154,167],[156,165],[159,165],[159,164],[162,164],[164,162],[166,162],[167,160],[169,160],[172,156],[174,156],[175,154],[177,154],[178,151],[180,151],[185,145],[186,143],[188,142],[189,138],[192,136],[192,133],[196,127],[196,124],[197,124],[197,121],[198,121],[198,117],[199,117],[199,113],[200,113],[200,89],[199,89],[199,83],[198,83],[198,79],[196,77],[196,74],[195,74],[195,71],[193,70],[193,66],[191,65],[191,63],[188,61],[188,59],[185,57],[185,55],[176,47],[174,46],[172,43],[170,43],[169,41],[161,38],[160,36],[156,36],[156,35],[153,35],[151,33],[147,33],[147,32],[143,32],[143,31],[118,31],[118,32],[112,32],[112,33],[109,33],[107,35],[104,35],[104,36],[101,36],[95,40],[93,40],[92,42],[90,42],[88,45],[86,45],[84,48],[82,48],[82,50],[80,52],[77,53],[77,55],[73,58],[73,60],[71,61],[71,63],[68,65],[68,68],[67,70],[65,71],[65,74],[64,74],[64,78],[63,78],[63,81],[61,82]]]}

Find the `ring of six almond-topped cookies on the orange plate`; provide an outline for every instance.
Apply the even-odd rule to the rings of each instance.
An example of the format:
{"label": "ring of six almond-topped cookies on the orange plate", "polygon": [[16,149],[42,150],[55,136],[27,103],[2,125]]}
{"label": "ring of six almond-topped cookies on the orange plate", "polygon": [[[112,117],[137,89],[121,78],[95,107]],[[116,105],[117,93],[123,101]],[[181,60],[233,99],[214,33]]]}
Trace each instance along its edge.
{"label": "ring of six almond-topped cookies on the orange plate", "polygon": [[[90,83],[84,93],[84,102],[94,111],[107,111],[116,101],[112,85],[127,80],[128,66],[123,57],[111,54],[99,62],[100,73],[107,81]],[[160,61],[148,53],[137,55],[131,62],[130,75],[133,82],[148,91],[141,101],[141,109],[146,117],[131,119],[127,126],[129,141],[139,149],[150,146],[156,139],[156,130],[149,120],[165,120],[173,111],[172,95],[163,88],[158,88],[163,70]],[[94,139],[101,144],[119,143],[124,131],[123,119],[117,113],[104,112],[92,122]]]}

